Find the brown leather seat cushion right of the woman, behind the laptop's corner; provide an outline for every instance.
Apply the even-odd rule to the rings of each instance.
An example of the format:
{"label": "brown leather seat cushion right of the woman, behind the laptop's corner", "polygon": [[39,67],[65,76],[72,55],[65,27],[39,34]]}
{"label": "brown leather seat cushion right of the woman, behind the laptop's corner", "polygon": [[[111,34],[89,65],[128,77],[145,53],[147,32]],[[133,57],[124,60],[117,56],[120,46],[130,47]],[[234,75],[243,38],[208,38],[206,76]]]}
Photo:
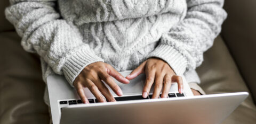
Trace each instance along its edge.
{"label": "brown leather seat cushion right of the woman, behind the laptop's corner", "polygon": [[[249,92],[220,37],[215,39],[213,47],[205,52],[203,64],[197,68],[197,72],[206,94]],[[251,124],[256,122],[255,115],[256,107],[250,93],[249,97],[223,123]]]}

